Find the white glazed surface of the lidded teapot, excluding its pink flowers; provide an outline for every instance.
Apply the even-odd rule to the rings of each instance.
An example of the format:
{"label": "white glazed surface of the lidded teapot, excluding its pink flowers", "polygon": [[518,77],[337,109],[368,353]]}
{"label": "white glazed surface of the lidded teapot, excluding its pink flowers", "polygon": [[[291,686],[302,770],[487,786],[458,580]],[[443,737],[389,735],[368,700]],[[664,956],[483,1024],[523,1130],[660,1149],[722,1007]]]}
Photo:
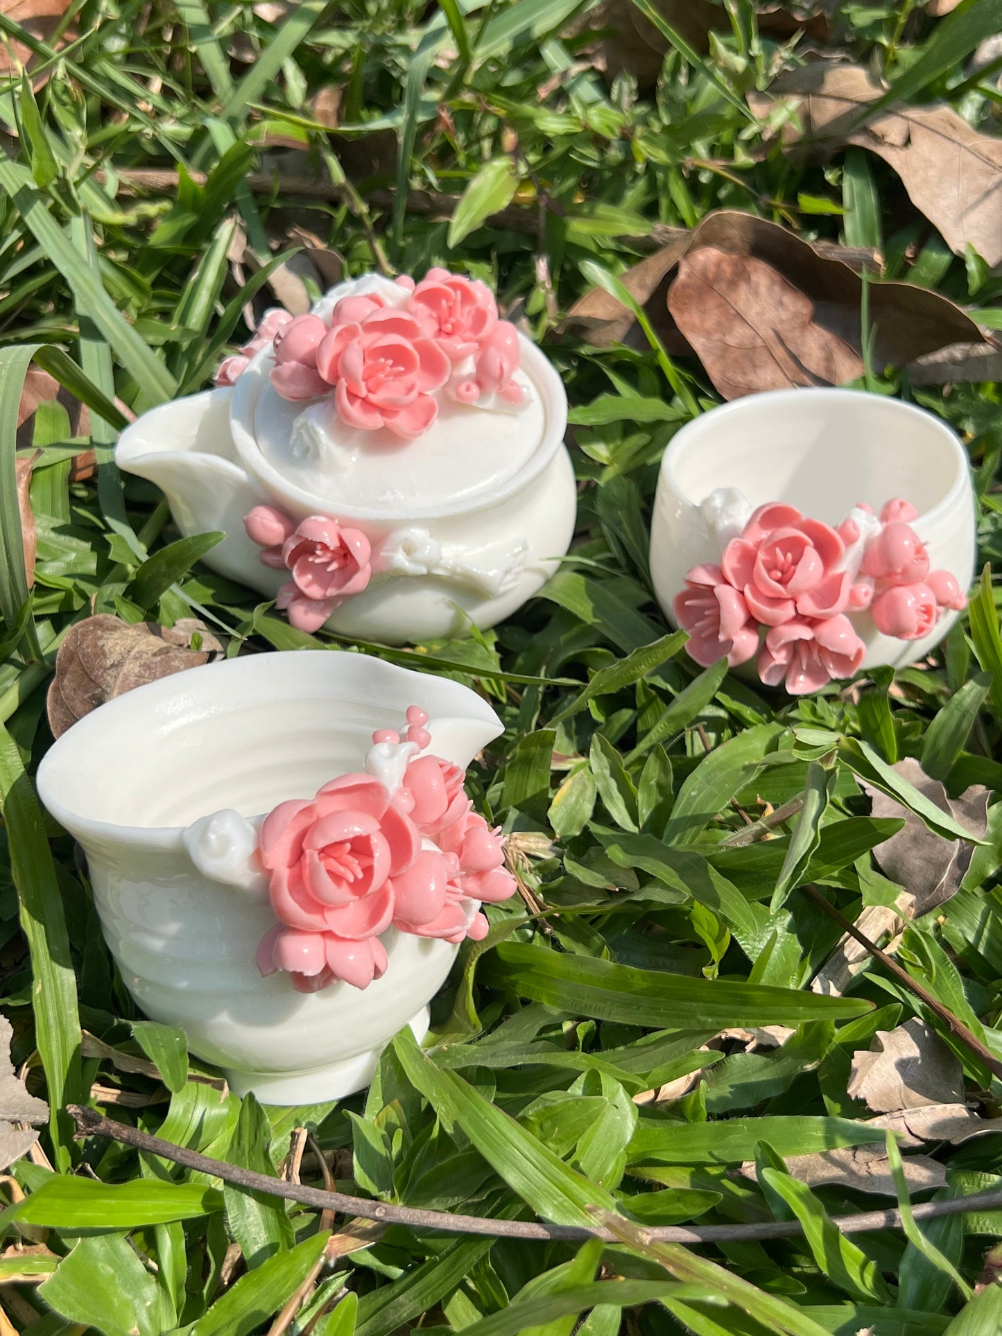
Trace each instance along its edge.
{"label": "white glazed surface of the lidded teapot, excluding its pink flowers", "polygon": [[[367,277],[349,293],[402,290]],[[144,413],[120,436],[119,468],[155,482],[182,534],[219,530],[203,558],[220,574],[274,597],[289,577],[262,565],[243,529],[255,505],[295,520],[330,516],[361,529],[375,556],[391,552],[367,589],[327,621],[345,636],[405,644],[486,628],[510,616],[556,572],[570,546],[577,493],[564,446],[566,395],[546,357],[520,335],[524,411],[444,401],[432,430],[401,441],[338,424],[330,405],[290,403],[269,383],[270,349],[232,389],[208,390]],[[310,430],[293,440],[297,420]],[[314,430],[315,428],[315,430]]]}

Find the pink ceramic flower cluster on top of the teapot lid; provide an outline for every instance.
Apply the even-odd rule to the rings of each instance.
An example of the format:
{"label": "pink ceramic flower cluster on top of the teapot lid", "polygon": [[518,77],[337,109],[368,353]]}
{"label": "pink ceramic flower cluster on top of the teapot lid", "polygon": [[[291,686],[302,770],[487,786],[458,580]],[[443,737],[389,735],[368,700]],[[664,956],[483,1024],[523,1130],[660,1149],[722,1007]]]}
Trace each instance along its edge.
{"label": "pink ceramic flower cluster on top of the teapot lid", "polygon": [[333,389],[338,417],[363,430],[386,428],[413,440],[438,417],[436,391],[460,403],[500,394],[512,405],[522,390],[518,334],[498,319],[490,289],[432,269],[403,307],[378,293],[342,297],[330,322],[298,315],[275,335],[271,383],[283,398],[307,399]]}

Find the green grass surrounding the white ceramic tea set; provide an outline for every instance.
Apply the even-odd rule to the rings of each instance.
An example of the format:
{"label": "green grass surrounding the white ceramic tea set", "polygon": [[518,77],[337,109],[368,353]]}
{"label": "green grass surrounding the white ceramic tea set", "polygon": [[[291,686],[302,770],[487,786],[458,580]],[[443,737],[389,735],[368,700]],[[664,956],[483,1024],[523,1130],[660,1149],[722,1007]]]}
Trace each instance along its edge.
{"label": "green grass surrounding the white ceramic tea set", "polygon": [[[39,1280],[51,1276],[41,1288],[24,1281],[27,1261],[0,1259],[0,1280],[21,1277],[0,1289],[19,1331],[266,1332],[310,1276],[287,1329],[319,1336],[570,1336],[584,1313],[582,1336],[999,1327],[997,1287],[967,1307],[965,1297],[1002,1214],[912,1221],[907,1234],[848,1242],[830,1217],[894,1197],[848,1182],[811,1190],[783,1169],[799,1154],[882,1144],[847,1094],[851,1057],[912,1015],[949,1041],[978,1113],[999,1112],[982,1059],[879,966],[843,999],[810,991],[839,927],[800,890],[814,882],[850,919],[894,900],[868,852],[888,831],[867,815],[858,775],[886,783],[888,762],[921,756],[951,791],[994,791],[997,587],[989,572],[934,663],[859,692],[791,701],[719,668],[697,672],[665,639],[647,526],[665,444],[717,395],[653,331],[651,343],[597,350],[561,319],[593,283],[621,291],[619,275],[652,248],[655,224],[692,227],[720,207],[806,239],[880,246],[894,277],[985,307],[991,327],[1002,278],[951,255],[878,158],[852,148],[806,160],[763,140],[745,95],[819,39],[779,45],[760,33],[751,0],[720,7],[704,43],[684,24],[685,5],[639,8],[660,16],[667,45],[660,73],[643,83],[629,67],[605,68],[607,43],[629,29],[627,7],[587,0],[302,0],[261,13],[81,0],[64,24],[76,36],[67,31],[59,52],[0,17],[49,76],[44,87],[35,79],[35,94],[19,76],[0,87],[0,1006],[16,1063],[53,1109],[37,1162],[16,1164],[19,1192],[4,1189],[9,1201],[27,1194],[24,1221],[40,1221],[0,1217],[5,1248],[48,1249],[31,1263]],[[874,0],[838,8],[828,47],[883,72],[888,102],[957,90],[958,110],[993,132],[997,73],[974,75],[967,57],[998,27],[997,0],[965,0],[938,21],[921,5]],[[651,69],[649,47],[633,43],[629,61]],[[331,90],[335,134],[315,106]],[[262,1112],[194,1079],[202,1069],[184,1066],[176,1034],[136,1026],[72,842],[43,818],[29,776],[51,741],[44,692],[56,649],[92,612],[166,625],[194,612],[231,655],[309,643],[198,565],[208,540],[166,552],[178,534],[159,493],[111,462],[123,410],[207,386],[246,338],[243,306],[269,295],[298,244],[294,227],[334,248],[349,275],[448,265],[497,287],[566,383],[580,532],[546,596],[502,627],[418,652],[354,647],[449,672],[498,709],[506,732],[472,791],[510,834],[533,907],[490,910],[488,942],[462,949],[434,1003],[424,1057],[405,1035],[367,1096]],[[319,295],[309,278],[306,289]],[[51,405],[23,442],[44,450],[28,604],[13,450],[32,357],[90,403],[92,434],[72,437]],[[868,377],[962,434],[982,562],[998,565],[999,386],[919,389],[882,367]],[[71,456],[91,448],[96,478],[71,482]],[[745,820],[802,794],[803,826],[791,815],[774,838],[735,843]],[[907,929],[896,958],[1002,1055],[997,811],[962,890]],[[783,1019],[796,1029],[782,1049],[744,1053],[731,1039],[727,1057],[700,1054],[723,1027]],[[81,1030],[102,1043],[81,1050]],[[147,1066],[123,1070],[114,1057]],[[676,1101],[633,1102],[700,1065]],[[162,1079],[148,1074],[158,1069]],[[595,1205],[645,1224],[796,1214],[804,1237],[687,1253],[652,1249],[624,1224],[623,1241],[604,1249],[393,1225],[315,1272],[315,1213],[262,1205],[99,1138],[73,1141],[60,1110],[95,1085],[91,1102],[112,1117],[255,1169],[275,1169],[293,1129],[309,1126],[334,1154],[339,1188],[387,1202],[564,1222]],[[998,1134],[922,1149],[943,1166],[941,1194],[1002,1185]],[[903,1150],[907,1169],[915,1148]],[[735,1174],[743,1161],[758,1177]],[[75,1177],[52,1180],[45,1162]],[[174,1188],[154,1184],[167,1177]],[[309,1160],[303,1181],[321,1182]]]}

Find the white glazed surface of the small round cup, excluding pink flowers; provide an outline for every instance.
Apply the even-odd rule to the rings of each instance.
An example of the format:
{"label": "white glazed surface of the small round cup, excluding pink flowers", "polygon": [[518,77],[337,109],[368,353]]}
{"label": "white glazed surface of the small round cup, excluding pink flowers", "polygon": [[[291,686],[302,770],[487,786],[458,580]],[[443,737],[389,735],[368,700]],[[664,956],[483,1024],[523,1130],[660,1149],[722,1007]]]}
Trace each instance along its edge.
{"label": "white glazed surface of the small round cup, excluding pink flowers", "polygon": [[[919,512],[911,526],[931,566],[951,572],[961,589],[970,587],[975,517],[967,456],[925,409],[859,390],[798,389],[752,394],[688,422],[664,453],[651,526],[651,576],[672,624],[685,572],[720,561],[720,540],[700,509],[720,488],[736,488],[752,508],[786,501],[832,526],[858,501],[879,512],[903,497]],[[866,644],[866,669],[922,659],[958,613],[945,613],[922,640],[880,635],[868,612],[847,616]]]}

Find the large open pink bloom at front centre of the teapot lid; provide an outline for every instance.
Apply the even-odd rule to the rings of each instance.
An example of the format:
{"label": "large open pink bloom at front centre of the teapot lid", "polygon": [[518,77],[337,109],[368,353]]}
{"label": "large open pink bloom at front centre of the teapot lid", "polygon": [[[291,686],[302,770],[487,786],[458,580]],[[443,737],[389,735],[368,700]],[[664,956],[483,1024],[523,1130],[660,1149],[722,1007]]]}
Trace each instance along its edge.
{"label": "large open pink bloom at front centre of the teapot lid", "polygon": [[411,315],[387,309],[370,313],[363,325],[335,325],[318,347],[317,370],[334,386],[338,415],[349,426],[385,426],[413,440],[438,417],[432,391],[449,379],[450,365]]}

